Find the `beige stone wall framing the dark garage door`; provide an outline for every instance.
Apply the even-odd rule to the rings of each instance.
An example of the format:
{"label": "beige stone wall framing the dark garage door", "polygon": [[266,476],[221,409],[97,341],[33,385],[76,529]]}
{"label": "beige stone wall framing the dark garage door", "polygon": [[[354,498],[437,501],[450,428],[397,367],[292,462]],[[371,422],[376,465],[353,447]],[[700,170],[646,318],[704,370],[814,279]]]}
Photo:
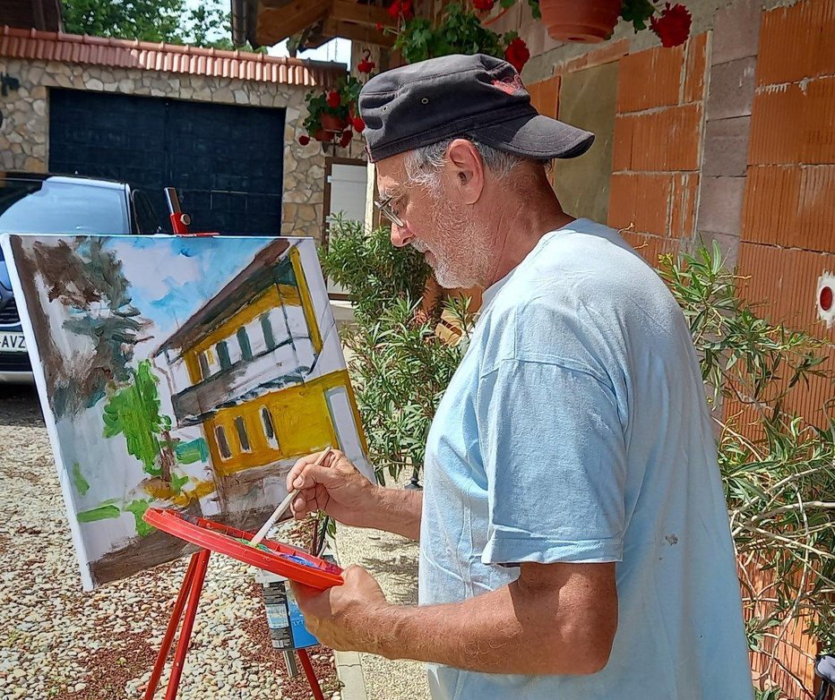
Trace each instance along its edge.
{"label": "beige stone wall framing the dark garage door", "polygon": [[2,57],[0,73],[9,73],[21,83],[19,90],[9,90],[8,96],[0,98],[0,112],[4,117],[0,124],[0,169],[3,170],[47,170],[48,89],[51,87],[252,107],[283,107],[286,110],[286,147],[281,234],[321,238],[323,149],[315,141],[305,147],[298,143],[298,137],[304,133],[304,98],[309,88],[188,73]]}

